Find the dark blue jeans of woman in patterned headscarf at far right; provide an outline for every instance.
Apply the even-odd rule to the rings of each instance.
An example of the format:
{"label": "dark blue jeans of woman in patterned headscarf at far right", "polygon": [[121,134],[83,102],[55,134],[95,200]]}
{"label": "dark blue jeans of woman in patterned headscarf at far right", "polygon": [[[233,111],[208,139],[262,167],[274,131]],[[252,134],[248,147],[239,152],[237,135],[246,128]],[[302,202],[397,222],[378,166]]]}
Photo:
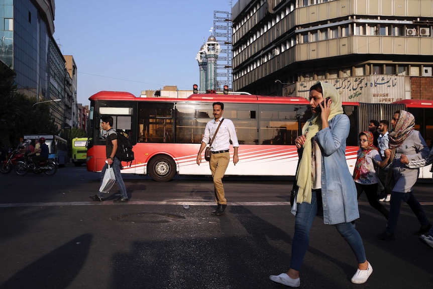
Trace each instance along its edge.
{"label": "dark blue jeans of woman in patterned headscarf at far right", "polygon": [[400,214],[401,200],[409,205],[412,212],[415,214],[421,226],[428,225],[428,219],[425,216],[424,210],[412,192],[398,192],[391,191],[391,201],[389,202],[389,219],[386,224],[386,232],[394,234],[395,228],[397,227],[398,215]]}

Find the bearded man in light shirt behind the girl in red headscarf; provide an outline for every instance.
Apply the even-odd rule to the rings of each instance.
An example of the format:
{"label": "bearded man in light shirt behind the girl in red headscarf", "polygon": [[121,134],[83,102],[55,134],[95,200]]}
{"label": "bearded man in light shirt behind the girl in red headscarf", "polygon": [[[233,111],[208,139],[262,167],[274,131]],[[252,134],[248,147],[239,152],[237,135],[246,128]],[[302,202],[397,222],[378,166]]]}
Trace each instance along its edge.
{"label": "bearded man in light shirt behind the girl in red headscarf", "polygon": [[[388,127],[389,122],[387,120],[381,120],[379,122],[379,126],[377,130],[380,132],[379,137],[377,138],[379,153],[382,156],[382,159],[385,158],[385,150],[388,148]],[[380,191],[379,194],[379,202],[389,202],[391,200],[391,190],[389,187],[385,187],[383,184],[386,180],[386,175],[388,173],[388,169],[386,167],[378,169],[379,176],[379,185],[378,189]]]}

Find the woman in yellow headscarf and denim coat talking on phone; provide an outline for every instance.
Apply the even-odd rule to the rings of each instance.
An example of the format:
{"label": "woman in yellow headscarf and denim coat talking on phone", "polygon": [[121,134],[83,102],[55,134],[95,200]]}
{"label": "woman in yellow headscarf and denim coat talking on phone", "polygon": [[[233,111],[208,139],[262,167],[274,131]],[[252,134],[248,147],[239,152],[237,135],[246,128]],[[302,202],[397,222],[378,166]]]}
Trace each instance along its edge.
{"label": "woman in yellow headscarf and denim coat talking on phone", "polygon": [[302,135],[295,139],[302,157],[296,173],[299,189],[292,207],[295,232],[290,267],[287,273],[269,278],[299,287],[299,270],[308,249],[309,231],[317,212],[322,212],[324,224],[334,225],[355,253],[358,269],[352,283],[365,283],[373,268],[366,259],[361,236],[351,224],[359,218],[359,211],[345,155],[350,121],[343,114],[340,94],[327,82],[311,86],[309,101],[313,115],[302,128]]}

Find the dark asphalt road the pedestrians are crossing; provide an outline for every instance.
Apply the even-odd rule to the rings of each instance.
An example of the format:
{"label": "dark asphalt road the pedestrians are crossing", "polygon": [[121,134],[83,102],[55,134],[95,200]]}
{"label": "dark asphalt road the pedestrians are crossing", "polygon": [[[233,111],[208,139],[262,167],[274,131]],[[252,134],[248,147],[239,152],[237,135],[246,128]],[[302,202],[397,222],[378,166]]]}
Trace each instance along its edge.
{"label": "dark asphalt road the pedestrians are crossing", "polygon": [[[0,175],[0,289],[285,288],[268,279],[288,269],[294,216],[283,178],[225,179],[229,211],[210,214],[208,177],[165,183],[125,176],[131,201],[88,199],[97,173],[67,166],[56,175]],[[414,188],[433,221],[431,182]],[[188,205],[185,209],[183,205]],[[386,205],[388,206],[388,205]],[[396,239],[379,241],[382,215],[360,199],[356,226],[374,272],[350,278],[356,259],[333,226],[317,217],[301,269],[301,288],[432,288],[433,249],[402,206]]]}

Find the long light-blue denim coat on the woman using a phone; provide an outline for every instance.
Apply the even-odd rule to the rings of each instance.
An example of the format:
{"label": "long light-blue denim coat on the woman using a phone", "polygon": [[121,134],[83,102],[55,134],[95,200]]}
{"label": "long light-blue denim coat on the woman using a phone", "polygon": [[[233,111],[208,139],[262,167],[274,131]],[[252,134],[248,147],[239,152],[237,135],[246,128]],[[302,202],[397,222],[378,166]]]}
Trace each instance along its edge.
{"label": "long light-blue denim coat on the woman using a phone", "polygon": [[323,223],[327,225],[359,218],[355,182],[346,161],[349,131],[349,118],[342,114],[331,119],[329,127],[315,135],[321,150],[321,198]]}

